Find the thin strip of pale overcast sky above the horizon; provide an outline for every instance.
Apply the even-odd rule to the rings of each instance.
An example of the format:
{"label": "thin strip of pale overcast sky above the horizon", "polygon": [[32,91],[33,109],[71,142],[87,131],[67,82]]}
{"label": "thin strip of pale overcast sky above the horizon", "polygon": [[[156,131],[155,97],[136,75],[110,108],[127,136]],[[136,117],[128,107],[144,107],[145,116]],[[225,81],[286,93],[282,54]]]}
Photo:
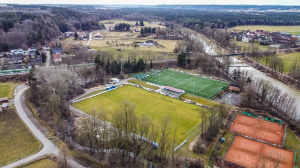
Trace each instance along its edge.
{"label": "thin strip of pale overcast sky above the horizon", "polygon": [[300,0],[1,0],[20,4],[280,4],[300,5]]}

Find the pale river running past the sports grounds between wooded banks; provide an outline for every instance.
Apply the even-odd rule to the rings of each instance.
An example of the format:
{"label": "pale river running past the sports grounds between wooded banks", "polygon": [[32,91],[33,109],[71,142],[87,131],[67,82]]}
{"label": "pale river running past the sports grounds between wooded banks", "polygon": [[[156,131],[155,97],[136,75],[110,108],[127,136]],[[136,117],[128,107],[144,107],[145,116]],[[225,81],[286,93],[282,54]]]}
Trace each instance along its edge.
{"label": "pale river running past the sports grounds between wooded banks", "polygon": [[[208,54],[211,55],[216,55],[218,50],[215,46],[213,46],[211,43],[209,43],[208,41],[206,41],[203,38],[198,37],[198,40],[200,40],[204,46],[205,46],[205,51]],[[235,67],[239,67],[240,70],[247,70],[249,75],[252,76],[252,78],[262,78],[264,80],[268,80],[270,81],[274,86],[276,86],[277,88],[281,89],[282,92],[286,92],[288,93],[290,96],[292,96],[293,98],[296,99],[296,111],[298,114],[300,114],[300,91],[289,87],[288,85],[285,85],[284,83],[279,82],[278,80],[267,76],[266,74],[262,73],[261,71],[255,69],[254,67],[251,67],[249,65],[247,65],[246,63],[234,58],[234,57],[230,57],[232,59],[232,67],[231,70],[233,70]],[[299,107],[299,108],[298,108]]]}

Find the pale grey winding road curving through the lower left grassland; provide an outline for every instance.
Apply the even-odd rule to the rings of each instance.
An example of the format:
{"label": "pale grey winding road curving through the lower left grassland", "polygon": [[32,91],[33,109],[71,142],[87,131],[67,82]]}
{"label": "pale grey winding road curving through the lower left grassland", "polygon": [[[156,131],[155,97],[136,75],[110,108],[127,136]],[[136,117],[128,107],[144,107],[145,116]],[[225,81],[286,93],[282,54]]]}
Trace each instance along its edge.
{"label": "pale grey winding road curving through the lower left grassland", "polygon": [[[20,102],[21,95],[28,88],[29,87],[25,87],[25,88],[21,89],[19,92],[17,92],[17,94],[14,97],[14,106],[15,106],[15,109],[16,109],[18,115],[20,116],[20,118],[27,125],[27,127],[30,129],[30,131],[32,132],[32,134],[43,145],[43,147],[42,147],[42,149],[38,153],[35,153],[35,154],[31,155],[31,156],[28,156],[26,158],[23,158],[21,160],[18,160],[16,162],[11,163],[11,164],[5,165],[5,166],[3,166],[1,168],[14,168],[16,166],[19,166],[21,164],[27,163],[27,162],[35,159],[35,158],[38,158],[38,157],[41,157],[41,156],[47,155],[47,154],[53,154],[55,156],[58,155],[59,149],[54,144],[52,144],[46,137],[43,136],[43,134],[37,129],[37,127],[27,117],[27,115],[25,114],[25,112],[24,112],[24,110],[23,110],[23,108],[21,106],[21,102]],[[85,168],[82,165],[77,164],[73,160],[69,160],[68,161],[68,166],[70,166],[72,168]]]}

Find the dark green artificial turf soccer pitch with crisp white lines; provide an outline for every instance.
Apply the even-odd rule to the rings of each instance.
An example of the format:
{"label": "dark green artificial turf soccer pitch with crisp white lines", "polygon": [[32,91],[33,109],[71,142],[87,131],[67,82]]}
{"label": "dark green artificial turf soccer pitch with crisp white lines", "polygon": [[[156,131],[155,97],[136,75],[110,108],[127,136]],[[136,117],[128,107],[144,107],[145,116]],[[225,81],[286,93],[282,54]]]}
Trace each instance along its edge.
{"label": "dark green artificial turf soccer pitch with crisp white lines", "polygon": [[186,93],[194,94],[206,99],[212,99],[215,95],[224,90],[228,83],[182,73],[174,70],[157,72],[141,80],[164,86],[184,90]]}

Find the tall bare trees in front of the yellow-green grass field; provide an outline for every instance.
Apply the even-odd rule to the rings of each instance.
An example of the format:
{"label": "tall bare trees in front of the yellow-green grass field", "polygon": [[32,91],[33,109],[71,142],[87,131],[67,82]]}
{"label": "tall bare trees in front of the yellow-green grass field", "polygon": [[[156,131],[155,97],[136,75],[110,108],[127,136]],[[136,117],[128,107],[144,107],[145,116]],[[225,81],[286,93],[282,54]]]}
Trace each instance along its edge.
{"label": "tall bare trees in front of the yellow-green grass field", "polygon": [[[137,116],[136,106],[128,100],[121,102],[111,115],[99,109],[92,109],[89,114],[77,131],[80,134],[76,141],[89,155],[109,166],[178,168],[187,162],[180,152],[174,152],[177,127],[167,116],[154,123],[146,115]],[[200,160],[193,163],[203,168]]]}

